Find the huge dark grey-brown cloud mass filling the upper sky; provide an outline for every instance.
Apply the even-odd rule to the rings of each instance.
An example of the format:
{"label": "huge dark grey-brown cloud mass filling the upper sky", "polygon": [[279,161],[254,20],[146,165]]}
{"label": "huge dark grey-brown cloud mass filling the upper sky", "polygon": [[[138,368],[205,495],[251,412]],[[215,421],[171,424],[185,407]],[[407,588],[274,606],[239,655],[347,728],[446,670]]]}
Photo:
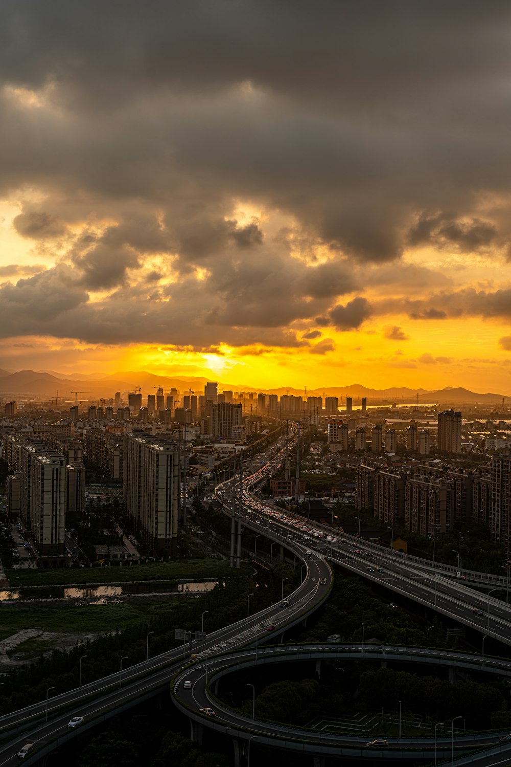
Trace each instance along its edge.
{"label": "huge dark grey-brown cloud mass filling the upper sky", "polygon": [[[358,328],[367,301],[336,304],[360,285],[434,285],[432,272],[390,263],[411,245],[505,250],[510,25],[499,0],[0,5],[0,191],[41,191],[15,227],[48,247],[87,222],[62,257],[75,266],[75,305],[60,309],[61,272],[5,300],[28,291],[47,311],[39,288],[55,291],[69,315],[53,326],[47,314],[57,334],[97,339],[103,328],[122,341],[127,323],[131,340],[172,326],[180,343],[203,332],[215,344],[240,342],[245,327],[284,342],[275,329],[295,320]],[[239,202],[293,216],[332,261],[297,266],[264,219],[237,221]],[[97,221],[116,225],[97,235]],[[166,295],[159,268],[143,275],[153,254],[186,295]],[[130,291],[134,274],[143,286]],[[145,303],[148,279],[161,305]],[[116,294],[87,305],[86,289]],[[409,313],[438,319],[444,306]],[[42,332],[36,318],[24,322]]]}

